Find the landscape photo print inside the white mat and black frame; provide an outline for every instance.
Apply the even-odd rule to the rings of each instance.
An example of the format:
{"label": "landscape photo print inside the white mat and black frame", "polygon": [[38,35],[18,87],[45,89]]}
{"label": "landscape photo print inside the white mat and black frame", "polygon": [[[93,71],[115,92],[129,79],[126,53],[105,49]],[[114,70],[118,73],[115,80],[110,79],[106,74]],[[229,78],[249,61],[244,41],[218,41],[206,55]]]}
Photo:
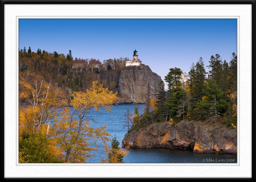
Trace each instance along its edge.
{"label": "landscape photo print inside the white mat and black frame", "polygon": [[237,163],[236,18],[18,23],[19,163]]}

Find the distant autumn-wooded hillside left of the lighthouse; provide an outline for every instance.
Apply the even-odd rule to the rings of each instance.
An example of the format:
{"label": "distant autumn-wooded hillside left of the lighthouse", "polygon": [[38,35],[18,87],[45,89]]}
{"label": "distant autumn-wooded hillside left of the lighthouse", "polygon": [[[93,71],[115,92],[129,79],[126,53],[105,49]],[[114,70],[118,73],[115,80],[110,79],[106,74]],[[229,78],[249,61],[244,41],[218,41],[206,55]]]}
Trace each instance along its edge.
{"label": "distant autumn-wooded hillside left of the lighthouse", "polygon": [[[76,64],[77,61],[82,64]],[[103,60],[99,67],[95,67],[95,59],[73,59],[72,52],[69,50],[67,55],[63,53],[53,53],[41,51],[31,52],[24,47],[19,51],[19,72],[32,71],[44,75],[45,79],[51,81],[55,86],[59,86],[63,91],[68,92],[86,90],[92,86],[92,80],[97,80],[99,74],[106,71],[123,70],[125,61],[128,58],[114,58]],[[99,61],[100,60],[96,60]],[[58,84],[56,84],[58,83]],[[105,87],[114,89],[114,82],[103,82]]]}

